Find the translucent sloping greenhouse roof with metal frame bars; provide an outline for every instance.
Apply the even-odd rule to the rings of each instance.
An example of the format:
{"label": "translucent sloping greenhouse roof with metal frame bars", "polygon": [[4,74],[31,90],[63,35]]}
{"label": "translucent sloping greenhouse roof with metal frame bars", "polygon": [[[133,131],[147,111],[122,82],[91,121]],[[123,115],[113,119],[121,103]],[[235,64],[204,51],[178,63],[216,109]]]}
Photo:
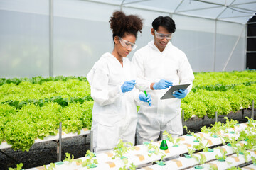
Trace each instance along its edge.
{"label": "translucent sloping greenhouse roof with metal frame bars", "polygon": [[245,24],[256,13],[255,0],[87,0],[112,4],[120,8],[137,8],[146,11],[210,18]]}

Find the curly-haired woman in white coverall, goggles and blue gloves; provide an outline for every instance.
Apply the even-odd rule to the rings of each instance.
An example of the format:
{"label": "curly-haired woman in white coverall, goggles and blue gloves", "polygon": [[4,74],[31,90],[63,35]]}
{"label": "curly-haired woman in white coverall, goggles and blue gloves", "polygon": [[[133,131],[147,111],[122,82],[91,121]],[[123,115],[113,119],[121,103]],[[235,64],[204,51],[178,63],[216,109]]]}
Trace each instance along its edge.
{"label": "curly-haired woman in white coverall, goggles and blue gloves", "polygon": [[102,55],[87,74],[95,101],[92,110],[95,152],[113,149],[121,139],[134,144],[136,106],[142,101],[151,105],[151,96],[134,88],[136,72],[126,58],[136,48],[137,33],[141,33],[142,26],[138,16],[115,11],[110,18],[114,49]]}

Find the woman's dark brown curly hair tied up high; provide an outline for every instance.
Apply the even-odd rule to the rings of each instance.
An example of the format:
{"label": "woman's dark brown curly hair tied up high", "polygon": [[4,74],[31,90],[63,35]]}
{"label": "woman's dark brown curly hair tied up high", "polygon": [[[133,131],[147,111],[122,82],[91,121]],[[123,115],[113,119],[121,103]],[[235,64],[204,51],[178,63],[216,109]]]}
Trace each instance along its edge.
{"label": "woman's dark brown curly hair tied up high", "polygon": [[113,40],[115,36],[123,37],[132,34],[137,38],[137,33],[142,33],[142,18],[136,15],[126,16],[122,11],[114,11],[110,18],[110,28],[113,32]]}

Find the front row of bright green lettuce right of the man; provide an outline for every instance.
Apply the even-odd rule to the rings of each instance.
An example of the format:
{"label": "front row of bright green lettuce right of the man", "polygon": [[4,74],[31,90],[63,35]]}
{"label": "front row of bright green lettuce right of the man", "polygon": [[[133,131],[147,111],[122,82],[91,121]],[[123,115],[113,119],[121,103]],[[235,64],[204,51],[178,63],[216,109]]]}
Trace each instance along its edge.
{"label": "front row of bright green lettuce right of the man", "polygon": [[256,99],[256,84],[250,86],[239,85],[227,91],[208,91],[200,89],[191,91],[186,98],[181,101],[181,108],[184,110],[184,118],[187,120],[192,115],[199,118],[207,115],[208,118],[215,118],[218,115],[228,115],[240,108],[252,106],[252,100]]}

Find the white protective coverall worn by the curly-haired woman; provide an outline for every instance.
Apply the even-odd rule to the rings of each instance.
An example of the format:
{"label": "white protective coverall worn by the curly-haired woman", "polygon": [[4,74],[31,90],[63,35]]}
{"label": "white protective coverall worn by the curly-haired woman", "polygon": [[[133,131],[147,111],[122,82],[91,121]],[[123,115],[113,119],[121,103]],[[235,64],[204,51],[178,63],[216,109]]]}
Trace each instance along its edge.
{"label": "white protective coverall worn by the curly-haired woman", "polygon": [[100,57],[87,80],[95,101],[92,110],[93,147],[95,152],[113,149],[119,139],[134,143],[139,91],[122,93],[124,81],[136,80],[135,68],[127,58],[123,67],[109,52]]}

